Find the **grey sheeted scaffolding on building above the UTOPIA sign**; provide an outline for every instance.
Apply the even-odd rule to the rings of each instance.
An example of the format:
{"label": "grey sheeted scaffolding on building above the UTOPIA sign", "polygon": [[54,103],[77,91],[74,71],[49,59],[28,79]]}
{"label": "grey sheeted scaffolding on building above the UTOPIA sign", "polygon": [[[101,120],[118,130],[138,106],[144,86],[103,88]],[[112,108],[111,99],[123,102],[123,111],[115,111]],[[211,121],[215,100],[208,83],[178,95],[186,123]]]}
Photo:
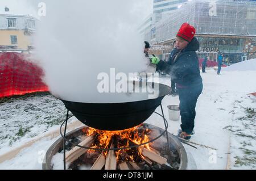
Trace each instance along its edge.
{"label": "grey sheeted scaffolding on building above the UTOPIA sign", "polygon": [[197,34],[256,35],[255,1],[192,0],[166,17],[155,24],[153,31],[145,32],[151,44],[174,39],[184,22],[192,24]]}

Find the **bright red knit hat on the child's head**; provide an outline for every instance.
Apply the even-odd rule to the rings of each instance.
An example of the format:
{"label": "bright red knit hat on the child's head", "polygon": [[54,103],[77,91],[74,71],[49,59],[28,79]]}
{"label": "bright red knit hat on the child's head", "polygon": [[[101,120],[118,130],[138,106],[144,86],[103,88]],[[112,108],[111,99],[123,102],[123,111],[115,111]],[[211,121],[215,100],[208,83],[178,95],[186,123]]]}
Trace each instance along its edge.
{"label": "bright red knit hat on the child's head", "polygon": [[183,23],[180,27],[179,32],[177,33],[177,36],[182,37],[188,42],[191,42],[195,34],[196,34],[196,29],[194,27],[192,27],[188,23]]}

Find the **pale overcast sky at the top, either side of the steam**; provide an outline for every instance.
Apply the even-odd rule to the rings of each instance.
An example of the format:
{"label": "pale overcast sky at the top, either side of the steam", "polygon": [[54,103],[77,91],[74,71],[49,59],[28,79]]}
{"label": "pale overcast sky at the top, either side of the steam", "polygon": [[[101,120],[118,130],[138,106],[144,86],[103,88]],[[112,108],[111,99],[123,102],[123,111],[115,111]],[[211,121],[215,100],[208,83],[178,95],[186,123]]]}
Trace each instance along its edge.
{"label": "pale overcast sky at the top, either side of the steam", "polygon": [[[81,0],[84,1],[84,0]],[[105,1],[105,0],[101,0]],[[125,1],[125,0],[123,0]],[[43,0],[0,0],[0,14],[5,14],[5,7],[9,7],[10,14],[22,14],[36,16],[38,3]],[[72,1],[71,1],[72,2]],[[110,0],[111,3],[111,0]],[[140,11],[142,17],[146,18],[152,12],[153,0],[138,0],[137,12]]]}

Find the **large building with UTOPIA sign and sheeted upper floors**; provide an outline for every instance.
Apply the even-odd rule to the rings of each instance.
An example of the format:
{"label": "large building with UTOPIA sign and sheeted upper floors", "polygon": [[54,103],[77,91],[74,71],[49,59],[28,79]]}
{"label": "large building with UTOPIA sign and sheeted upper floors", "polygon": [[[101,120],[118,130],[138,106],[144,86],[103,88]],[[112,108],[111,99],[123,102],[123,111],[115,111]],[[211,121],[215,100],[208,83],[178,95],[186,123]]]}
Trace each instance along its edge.
{"label": "large building with UTOPIA sign and sheeted upper floors", "polygon": [[[172,45],[184,22],[196,28],[200,42],[200,58],[209,56],[217,61],[224,54],[230,63],[256,58],[256,2],[193,0],[169,13],[146,32],[145,39],[156,45]],[[152,36],[154,34],[154,36]],[[166,59],[169,52],[159,56]]]}

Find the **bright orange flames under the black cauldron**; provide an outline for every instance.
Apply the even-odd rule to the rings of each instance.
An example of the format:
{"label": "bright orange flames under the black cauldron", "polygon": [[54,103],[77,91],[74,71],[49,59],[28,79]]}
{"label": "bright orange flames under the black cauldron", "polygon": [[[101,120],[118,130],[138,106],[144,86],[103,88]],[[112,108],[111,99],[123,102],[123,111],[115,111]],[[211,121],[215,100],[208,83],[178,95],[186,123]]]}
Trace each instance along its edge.
{"label": "bright orange flames under the black cauldron", "polygon": [[[87,136],[96,136],[96,141],[94,141],[93,148],[108,149],[111,145],[114,145],[115,148],[127,148],[129,146],[141,145],[150,140],[148,133],[150,133],[151,130],[139,129],[139,127],[141,127],[141,125],[121,131],[101,131],[94,128],[88,128],[83,132],[85,132]],[[150,150],[150,144],[143,145],[143,147]],[[104,151],[104,154],[107,155],[108,151]],[[139,157],[144,158],[142,155],[141,146],[134,149],[129,148],[115,151],[117,159],[121,159],[122,157],[122,159],[126,159],[126,161],[134,161],[134,154],[138,154]]]}

